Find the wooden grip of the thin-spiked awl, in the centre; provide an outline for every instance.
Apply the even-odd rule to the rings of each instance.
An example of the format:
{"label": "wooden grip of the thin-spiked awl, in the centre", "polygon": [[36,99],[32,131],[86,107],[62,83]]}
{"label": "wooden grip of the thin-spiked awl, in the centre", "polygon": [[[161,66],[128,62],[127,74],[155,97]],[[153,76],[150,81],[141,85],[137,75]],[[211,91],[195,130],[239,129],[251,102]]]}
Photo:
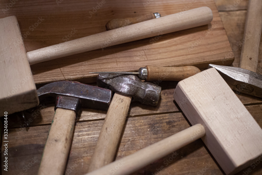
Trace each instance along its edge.
{"label": "wooden grip of the thin-spiked awl, in the centre", "polygon": [[200,72],[195,66],[155,67],[146,66],[146,81],[181,81]]}

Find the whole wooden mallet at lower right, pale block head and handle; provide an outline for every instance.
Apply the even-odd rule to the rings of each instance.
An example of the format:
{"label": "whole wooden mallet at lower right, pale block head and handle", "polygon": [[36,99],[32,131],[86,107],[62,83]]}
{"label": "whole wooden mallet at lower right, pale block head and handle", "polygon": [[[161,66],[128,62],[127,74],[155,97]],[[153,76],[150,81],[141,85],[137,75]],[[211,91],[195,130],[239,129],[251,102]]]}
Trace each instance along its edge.
{"label": "whole wooden mallet at lower right, pale block head and handle", "polygon": [[174,99],[193,126],[88,175],[130,174],[199,138],[226,174],[262,154],[260,126],[215,68],[180,81]]}

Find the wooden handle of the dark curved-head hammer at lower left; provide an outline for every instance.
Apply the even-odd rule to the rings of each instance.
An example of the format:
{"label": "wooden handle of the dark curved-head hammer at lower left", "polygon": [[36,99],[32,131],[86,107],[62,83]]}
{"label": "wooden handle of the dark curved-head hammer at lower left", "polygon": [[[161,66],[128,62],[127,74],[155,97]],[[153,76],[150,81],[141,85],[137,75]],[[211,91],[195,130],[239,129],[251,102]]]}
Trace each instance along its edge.
{"label": "wooden handle of the dark curved-head hammer at lower left", "polygon": [[75,112],[57,108],[38,175],[64,174],[75,124]]}

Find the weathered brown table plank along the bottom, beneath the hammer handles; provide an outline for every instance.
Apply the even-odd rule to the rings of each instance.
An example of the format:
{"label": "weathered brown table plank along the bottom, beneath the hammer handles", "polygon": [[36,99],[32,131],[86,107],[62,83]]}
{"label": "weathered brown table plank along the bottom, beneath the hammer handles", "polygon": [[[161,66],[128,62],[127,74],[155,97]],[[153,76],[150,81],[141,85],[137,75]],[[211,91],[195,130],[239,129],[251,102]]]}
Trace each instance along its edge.
{"label": "weathered brown table plank along the bottom, beneath the hammer handles", "polygon": [[[247,106],[247,109],[262,127],[262,105]],[[103,120],[76,124],[66,168],[68,173],[81,175],[87,172],[102,124]],[[116,159],[130,155],[189,126],[182,113],[128,118]],[[20,172],[24,175],[36,174],[49,129],[50,125],[30,127],[23,131],[19,129],[8,130],[10,171],[5,172],[2,169],[2,174],[19,174]],[[170,154],[163,157],[134,174],[158,174],[159,172],[161,172],[160,174],[223,174],[201,140],[183,147],[176,153],[178,155]],[[173,158],[170,158],[172,156]],[[262,173],[261,161],[256,163],[256,166],[252,164],[248,168],[251,169],[252,174]],[[243,171],[248,171],[248,168]],[[243,174],[243,171],[239,175]]]}

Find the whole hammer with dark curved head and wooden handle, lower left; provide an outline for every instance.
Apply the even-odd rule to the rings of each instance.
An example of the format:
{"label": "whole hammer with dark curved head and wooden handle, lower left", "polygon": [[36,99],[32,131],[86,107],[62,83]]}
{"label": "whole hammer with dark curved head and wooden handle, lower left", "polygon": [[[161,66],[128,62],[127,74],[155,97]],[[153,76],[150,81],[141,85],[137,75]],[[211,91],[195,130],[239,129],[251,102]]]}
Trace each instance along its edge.
{"label": "whole hammer with dark curved head and wooden handle, lower left", "polygon": [[37,94],[40,104],[56,102],[38,174],[63,174],[80,107],[107,110],[112,91],[75,81],[58,81],[39,88]]}

